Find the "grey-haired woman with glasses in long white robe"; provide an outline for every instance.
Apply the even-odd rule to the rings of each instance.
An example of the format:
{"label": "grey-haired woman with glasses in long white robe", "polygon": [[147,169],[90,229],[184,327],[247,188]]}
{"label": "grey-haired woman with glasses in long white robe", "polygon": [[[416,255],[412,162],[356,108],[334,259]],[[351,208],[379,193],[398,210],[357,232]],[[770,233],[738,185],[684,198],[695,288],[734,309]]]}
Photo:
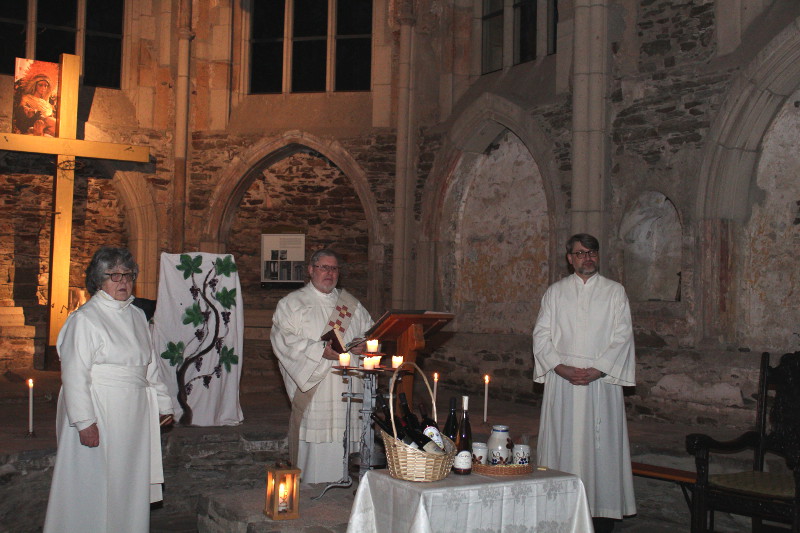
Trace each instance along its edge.
{"label": "grey-haired woman with glasses in long white robe", "polygon": [[98,250],[86,269],[93,296],[58,335],[58,453],[45,533],[146,533],[150,503],[161,500],[159,423],[171,423],[172,402],[144,312],[132,305],[137,271],[128,250]]}

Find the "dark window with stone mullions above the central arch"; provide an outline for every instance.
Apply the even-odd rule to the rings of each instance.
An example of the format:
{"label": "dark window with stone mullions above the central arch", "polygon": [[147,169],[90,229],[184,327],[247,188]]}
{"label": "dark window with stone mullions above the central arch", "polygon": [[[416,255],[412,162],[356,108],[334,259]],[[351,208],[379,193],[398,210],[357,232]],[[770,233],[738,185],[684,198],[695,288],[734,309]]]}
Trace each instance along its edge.
{"label": "dark window with stone mullions above the central arch", "polygon": [[372,0],[249,2],[251,94],[370,90]]}

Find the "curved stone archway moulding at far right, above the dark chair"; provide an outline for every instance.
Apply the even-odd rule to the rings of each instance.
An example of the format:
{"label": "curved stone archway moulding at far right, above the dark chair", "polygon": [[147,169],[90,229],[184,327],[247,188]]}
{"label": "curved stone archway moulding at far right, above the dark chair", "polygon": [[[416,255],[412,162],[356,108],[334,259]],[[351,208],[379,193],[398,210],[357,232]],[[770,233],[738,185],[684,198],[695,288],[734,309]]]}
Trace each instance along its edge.
{"label": "curved stone archway moulding at far right, above the dark chair", "polygon": [[[733,341],[739,283],[738,238],[763,197],[756,182],[762,141],[800,88],[800,19],[788,24],[734,80],[709,133],[695,208],[701,235],[695,287],[700,339]],[[704,283],[704,280],[713,280]],[[699,340],[700,340],[699,339]]]}

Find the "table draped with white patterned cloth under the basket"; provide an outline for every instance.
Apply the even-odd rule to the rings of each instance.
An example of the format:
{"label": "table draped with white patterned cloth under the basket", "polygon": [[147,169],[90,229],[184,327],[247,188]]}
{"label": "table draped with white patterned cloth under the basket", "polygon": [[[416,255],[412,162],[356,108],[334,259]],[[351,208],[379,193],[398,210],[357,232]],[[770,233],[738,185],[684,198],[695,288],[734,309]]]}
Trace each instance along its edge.
{"label": "table draped with white patterned cloth under the basket", "polygon": [[347,531],[591,533],[593,528],[583,483],[572,474],[451,474],[420,483],[371,470],[359,483]]}

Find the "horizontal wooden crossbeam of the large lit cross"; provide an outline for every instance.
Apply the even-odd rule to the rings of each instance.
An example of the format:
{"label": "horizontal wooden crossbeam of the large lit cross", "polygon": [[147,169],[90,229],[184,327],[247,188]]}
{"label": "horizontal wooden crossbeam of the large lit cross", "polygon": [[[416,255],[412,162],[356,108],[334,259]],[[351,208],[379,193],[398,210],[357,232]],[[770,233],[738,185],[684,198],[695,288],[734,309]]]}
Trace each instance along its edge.
{"label": "horizontal wooden crossbeam of the large lit cross", "polygon": [[[59,120],[62,120],[62,118],[59,118]],[[57,137],[37,137],[35,135],[20,135],[17,133],[0,133],[0,150],[136,161],[139,163],[147,163],[150,160],[150,148],[147,146],[60,139]]]}

